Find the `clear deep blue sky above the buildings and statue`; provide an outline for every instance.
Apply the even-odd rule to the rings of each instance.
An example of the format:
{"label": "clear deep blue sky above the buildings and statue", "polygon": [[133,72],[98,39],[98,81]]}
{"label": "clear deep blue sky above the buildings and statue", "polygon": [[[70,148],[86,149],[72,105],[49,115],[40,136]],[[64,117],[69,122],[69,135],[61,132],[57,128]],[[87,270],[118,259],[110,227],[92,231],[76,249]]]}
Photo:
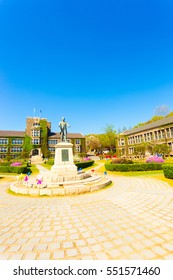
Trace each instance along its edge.
{"label": "clear deep blue sky above the buildings and statue", "polygon": [[172,0],[0,0],[0,130],[101,133],[173,111]]}

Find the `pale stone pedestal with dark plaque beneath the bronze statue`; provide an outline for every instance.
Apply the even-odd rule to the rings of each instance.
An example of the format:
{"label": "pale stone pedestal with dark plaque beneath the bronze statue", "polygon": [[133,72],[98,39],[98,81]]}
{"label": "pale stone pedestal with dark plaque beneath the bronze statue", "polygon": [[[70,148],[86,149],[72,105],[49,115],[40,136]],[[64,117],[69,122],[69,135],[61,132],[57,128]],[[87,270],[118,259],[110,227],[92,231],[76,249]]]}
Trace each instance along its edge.
{"label": "pale stone pedestal with dark plaque beneath the bronze statue", "polygon": [[73,144],[60,142],[55,146],[55,159],[51,172],[64,177],[77,175],[77,166],[73,160]]}

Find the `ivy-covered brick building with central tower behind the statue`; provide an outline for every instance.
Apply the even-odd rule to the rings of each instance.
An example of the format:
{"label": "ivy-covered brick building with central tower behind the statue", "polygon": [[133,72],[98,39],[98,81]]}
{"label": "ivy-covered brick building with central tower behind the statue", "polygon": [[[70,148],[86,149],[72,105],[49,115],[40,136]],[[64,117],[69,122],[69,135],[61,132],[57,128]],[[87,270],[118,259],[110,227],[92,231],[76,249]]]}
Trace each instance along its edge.
{"label": "ivy-covered brick building with central tower behind the statue", "polygon": [[[68,133],[68,142],[74,146],[74,154],[86,152],[85,136]],[[25,131],[0,130],[0,158],[26,157],[31,159],[54,157],[55,145],[60,142],[60,133],[51,131],[51,122],[45,118],[28,117]]]}

